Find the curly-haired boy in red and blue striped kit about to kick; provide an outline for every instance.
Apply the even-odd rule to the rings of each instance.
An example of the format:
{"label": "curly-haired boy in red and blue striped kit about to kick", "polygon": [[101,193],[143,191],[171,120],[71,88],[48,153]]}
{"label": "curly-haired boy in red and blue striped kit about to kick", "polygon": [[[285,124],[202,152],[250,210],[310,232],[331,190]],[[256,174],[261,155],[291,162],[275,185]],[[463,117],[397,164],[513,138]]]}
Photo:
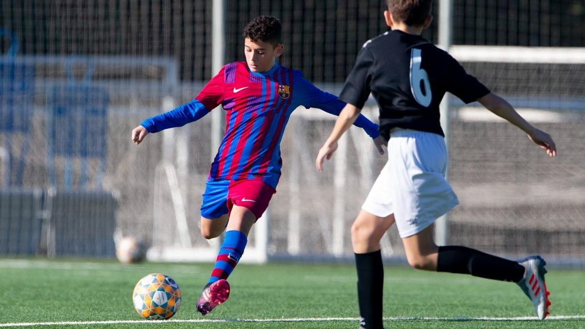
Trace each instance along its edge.
{"label": "curly-haired boy in red and blue striped kit about to kick", "polygon": [[[280,20],[259,16],[244,29],[246,61],[229,63],[188,104],[146,119],[132,131],[140,143],[147,133],[183,126],[219,104],[226,113],[226,132],[211,165],[201,205],[201,234],[218,237],[226,229],[215,268],[197,310],[205,315],[229,296],[226,281],[246,247],[252,225],[276,193],[282,159],[280,140],[292,111],[299,106],[338,115],[345,103],[319,90],[300,71],[276,59],[284,46]],[[355,122],[383,153],[378,126],[360,115]]]}

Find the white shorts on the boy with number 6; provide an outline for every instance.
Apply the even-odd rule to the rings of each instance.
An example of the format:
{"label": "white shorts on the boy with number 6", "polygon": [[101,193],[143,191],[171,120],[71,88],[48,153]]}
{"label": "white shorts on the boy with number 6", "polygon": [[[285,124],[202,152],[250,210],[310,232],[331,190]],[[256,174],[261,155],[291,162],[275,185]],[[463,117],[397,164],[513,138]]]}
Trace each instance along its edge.
{"label": "white shorts on the boy with number 6", "polygon": [[362,209],[378,217],[394,214],[401,238],[429,227],[457,204],[445,179],[447,147],[441,135],[394,128],[388,162]]}

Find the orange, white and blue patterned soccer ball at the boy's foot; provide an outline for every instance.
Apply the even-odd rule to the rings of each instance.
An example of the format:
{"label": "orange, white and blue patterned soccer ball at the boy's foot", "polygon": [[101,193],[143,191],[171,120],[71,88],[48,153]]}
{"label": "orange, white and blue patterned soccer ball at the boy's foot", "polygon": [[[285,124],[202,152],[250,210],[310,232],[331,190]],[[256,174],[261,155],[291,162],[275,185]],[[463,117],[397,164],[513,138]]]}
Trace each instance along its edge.
{"label": "orange, white and blue patterned soccer ball at the boy's foot", "polygon": [[181,305],[181,290],[172,277],[161,273],[144,276],[132,293],[134,309],[148,320],[166,320]]}

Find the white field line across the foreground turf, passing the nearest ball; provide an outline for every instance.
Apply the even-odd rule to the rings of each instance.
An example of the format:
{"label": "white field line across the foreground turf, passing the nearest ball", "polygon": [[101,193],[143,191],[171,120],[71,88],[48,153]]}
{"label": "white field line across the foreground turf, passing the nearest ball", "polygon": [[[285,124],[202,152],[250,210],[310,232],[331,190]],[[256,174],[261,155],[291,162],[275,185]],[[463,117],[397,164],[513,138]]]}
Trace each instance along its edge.
{"label": "white field line across the foreground turf, passing the nearest ball", "polygon": [[[549,316],[546,320],[585,319],[581,316]],[[357,317],[325,318],[259,318],[259,319],[192,319],[192,320],[112,320],[112,321],[63,321],[63,322],[21,322],[0,323],[0,327],[32,327],[33,325],[91,325],[91,324],[163,324],[163,323],[237,323],[237,322],[321,322],[321,321],[358,321]],[[423,320],[423,321],[539,321],[536,317],[385,317],[387,321]]]}

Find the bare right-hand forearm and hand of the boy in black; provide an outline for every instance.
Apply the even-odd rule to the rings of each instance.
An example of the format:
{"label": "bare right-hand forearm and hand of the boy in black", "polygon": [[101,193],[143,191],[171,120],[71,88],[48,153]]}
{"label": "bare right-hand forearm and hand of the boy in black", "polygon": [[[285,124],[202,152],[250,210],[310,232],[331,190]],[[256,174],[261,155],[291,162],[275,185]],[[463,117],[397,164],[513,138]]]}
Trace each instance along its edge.
{"label": "bare right-hand forearm and hand of the boy in black", "polygon": [[506,119],[511,124],[522,129],[522,131],[528,135],[528,138],[532,140],[532,142],[546,150],[546,154],[549,156],[556,156],[555,142],[552,140],[550,135],[546,132],[536,129],[534,126],[529,124],[528,121],[522,118],[522,116],[520,116],[518,112],[515,111],[510,103],[504,100],[504,98],[501,98],[493,92],[490,92],[484,97],[479,98],[477,101],[479,101],[481,105],[486,107],[495,115]]}

